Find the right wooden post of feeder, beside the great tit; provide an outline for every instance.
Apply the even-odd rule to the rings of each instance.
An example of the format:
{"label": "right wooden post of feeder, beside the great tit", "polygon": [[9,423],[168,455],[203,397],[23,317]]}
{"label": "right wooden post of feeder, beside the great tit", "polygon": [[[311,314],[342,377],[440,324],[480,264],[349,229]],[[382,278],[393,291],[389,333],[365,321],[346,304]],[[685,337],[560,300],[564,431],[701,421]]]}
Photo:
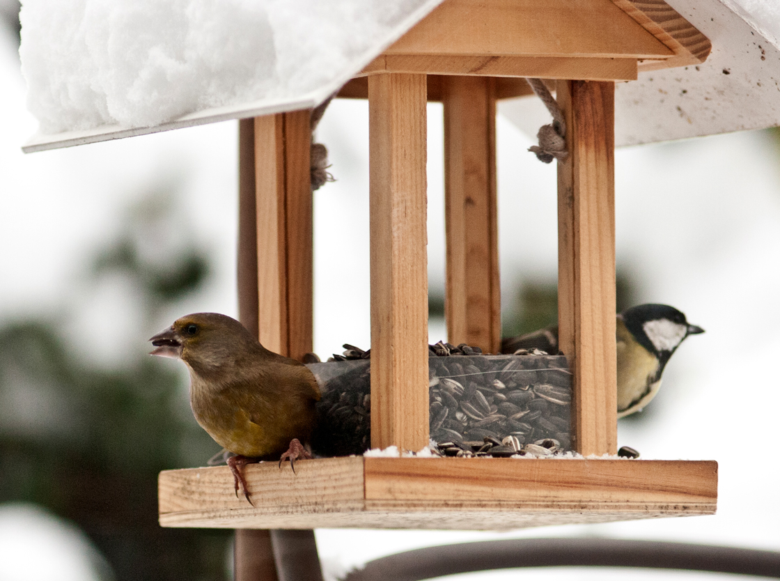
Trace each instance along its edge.
{"label": "right wooden post of feeder, beside the great tit", "polygon": [[615,83],[558,81],[569,158],[558,164],[558,325],[573,369],[577,452],[617,452]]}

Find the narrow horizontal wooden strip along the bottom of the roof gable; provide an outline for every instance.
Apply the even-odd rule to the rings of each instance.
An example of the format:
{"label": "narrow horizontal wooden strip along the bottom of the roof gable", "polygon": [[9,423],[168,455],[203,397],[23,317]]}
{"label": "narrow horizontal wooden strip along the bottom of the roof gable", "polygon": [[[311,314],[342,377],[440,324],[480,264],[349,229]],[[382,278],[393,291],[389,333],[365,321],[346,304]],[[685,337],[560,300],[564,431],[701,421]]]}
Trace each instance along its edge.
{"label": "narrow horizontal wooden strip along the bottom of the roof gable", "polygon": [[393,54],[378,56],[360,74],[430,73],[532,76],[544,79],[636,80],[636,70],[636,58]]}

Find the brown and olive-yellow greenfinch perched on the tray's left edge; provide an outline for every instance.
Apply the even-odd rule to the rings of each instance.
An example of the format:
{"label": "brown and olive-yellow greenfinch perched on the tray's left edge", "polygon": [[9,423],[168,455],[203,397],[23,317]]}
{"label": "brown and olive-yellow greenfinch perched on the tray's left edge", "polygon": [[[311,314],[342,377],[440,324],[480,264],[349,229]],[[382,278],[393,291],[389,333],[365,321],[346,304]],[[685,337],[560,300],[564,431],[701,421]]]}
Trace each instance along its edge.
{"label": "brown and olive-yellow greenfinch perched on the tray's left edge", "polygon": [[241,484],[250,501],[247,463],[311,458],[321,392],[303,363],[268,351],[239,321],[216,313],[181,317],[149,340],[151,355],[182,360],[190,370],[195,419],[235,454],[227,462],[236,494]]}

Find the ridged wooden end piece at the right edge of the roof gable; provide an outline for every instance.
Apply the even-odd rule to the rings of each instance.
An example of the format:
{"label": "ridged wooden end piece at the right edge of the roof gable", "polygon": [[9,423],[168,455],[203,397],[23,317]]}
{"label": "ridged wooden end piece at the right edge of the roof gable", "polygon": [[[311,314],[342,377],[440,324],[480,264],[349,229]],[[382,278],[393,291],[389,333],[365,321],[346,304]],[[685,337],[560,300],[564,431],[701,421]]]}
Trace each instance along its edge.
{"label": "ridged wooden end piece at the right edge of the roof gable", "polygon": [[712,50],[710,39],[665,0],[612,0],[612,2],[674,52],[674,56],[665,61],[640,62],[640,70],[697,65],[707,60],[710,55]]}

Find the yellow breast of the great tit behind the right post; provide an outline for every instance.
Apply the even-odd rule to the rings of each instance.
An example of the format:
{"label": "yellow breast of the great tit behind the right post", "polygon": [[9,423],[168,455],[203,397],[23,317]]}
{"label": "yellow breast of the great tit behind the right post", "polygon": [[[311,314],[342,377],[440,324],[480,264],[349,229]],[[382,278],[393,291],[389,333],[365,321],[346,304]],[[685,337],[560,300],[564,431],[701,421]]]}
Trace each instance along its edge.
{"label": "yellow breast of the great tit behind the right post", "polygon": [[648,378],[655,376],[658,370],[658,359],[633,338],[620,319],[617,321],[617,347],[618,415],[621,416],[626,415],[622,412],[628,411],[632,404],[636,408],[637,402],[642,406],[649,402],[655,395],[655,391],[658,391],[657,384],[660,384],[660,381],[656,382],[654,389],[651,389]]}

